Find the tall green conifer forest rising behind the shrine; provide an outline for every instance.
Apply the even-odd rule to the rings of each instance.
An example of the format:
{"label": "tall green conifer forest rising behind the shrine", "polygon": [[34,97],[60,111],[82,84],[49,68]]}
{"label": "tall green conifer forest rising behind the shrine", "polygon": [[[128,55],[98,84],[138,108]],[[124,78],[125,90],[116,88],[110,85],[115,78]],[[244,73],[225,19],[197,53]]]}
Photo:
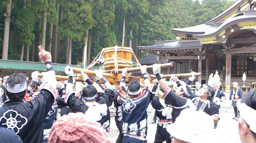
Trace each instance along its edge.
{"label": "tall green conifer forest rising behind the shrine", "polygon": [[[230,0],[0,0],[1,59],[38,61],[38,45],[53,62],[87,64],[104,47],[133,48],[174,40],[170,28],[190,27],[218,16]],[[10,14],[11,13],[11,14]],[[9,29],[5,30],[5,23]],[[7,31],[7,32],[4,32]],[[7,35],[8,34],[8,35]],[[7,40],[5,37],[9,37]],[[4,42],[5,41],[5,42]],[[7,41],[7,42],[6,42]],[[87,42],[86,42],[87,41]],[[84,47],[87,45],[87,51]]]}

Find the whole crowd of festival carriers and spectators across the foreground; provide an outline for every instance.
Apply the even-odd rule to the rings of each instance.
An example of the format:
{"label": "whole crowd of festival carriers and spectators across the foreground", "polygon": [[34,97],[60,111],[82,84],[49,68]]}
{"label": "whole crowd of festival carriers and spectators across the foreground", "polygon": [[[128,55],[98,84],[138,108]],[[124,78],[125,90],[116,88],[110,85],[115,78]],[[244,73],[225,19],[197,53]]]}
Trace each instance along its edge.
{"label": "whole crowd of festival carriers and spectators across the foreground", "polygon": [[[56,81],[51,53],[38,46],[38,57],[45,62],[46,72],[38,71],[29,80],[22,73],[5,76],[0,88],[0,141],[25,143],[110,143],[110,111],[114,104],[115,123],[119,130],[116,143],[147,142],[148,115],[151,103],[156,110],[157,129],[154,143],[211,142],[212,132],[220,120],[220,104],[225,99],[219,81],[196,82],[192,93],[192,76],[184,82],[172,75],[162,78],[159,64],[154,64],[157,81],[153,86],[146,66],[140,66],[144,79],[126,86],[127,68],[122,70],[119,85],[111,85],[95,70],[94,78],[81,72],[75,83],[71,66],[65,67],[68,80]],[[3,83],[2,83],[3,80]],[[102,83],[102,84],[99,84]],[[243,95],[237,83],[229,99],[234,106],[239,136],[243,143],[256,142],[256,89]],[[61,113],[58,118],[57,112]]]}

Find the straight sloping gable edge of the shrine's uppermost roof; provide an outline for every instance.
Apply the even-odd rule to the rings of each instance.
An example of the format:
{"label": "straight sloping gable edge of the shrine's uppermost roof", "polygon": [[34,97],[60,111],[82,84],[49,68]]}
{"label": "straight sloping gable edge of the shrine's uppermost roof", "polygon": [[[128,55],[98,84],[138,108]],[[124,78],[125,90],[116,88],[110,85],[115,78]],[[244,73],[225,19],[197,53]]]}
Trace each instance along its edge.
{"label": "straight sloping gable edge of the shrine's uppermost roof", "polygon": [[238,9],[243,5],[248,3],[249,1],[252,0],[240,0],[237,1],[236,3],[234,3],[232,6],[230,6],[227,10],[225,10],[224,12],[222,12],[221,14],[219,14],[218,16],[216,16],[215,18],[211,19],[210,21],[207,21],[206,23],[213,23],[213,22],[219,22],[219,21],[223,21],[224,17],[234,13],[235,11],[238,11]]}

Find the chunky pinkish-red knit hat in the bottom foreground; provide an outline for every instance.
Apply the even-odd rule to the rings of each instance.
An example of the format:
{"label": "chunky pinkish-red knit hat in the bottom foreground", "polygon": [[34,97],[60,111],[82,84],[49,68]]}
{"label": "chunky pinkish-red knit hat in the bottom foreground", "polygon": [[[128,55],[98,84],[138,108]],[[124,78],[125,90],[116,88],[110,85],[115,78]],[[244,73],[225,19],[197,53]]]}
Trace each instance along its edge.
{"label": "chunky pinkish-red knit hat in the bottom foreground", "polygon": [[92,121],[83,113],[61,116],[52,128],[49,143],[110,143],[100,123]]}

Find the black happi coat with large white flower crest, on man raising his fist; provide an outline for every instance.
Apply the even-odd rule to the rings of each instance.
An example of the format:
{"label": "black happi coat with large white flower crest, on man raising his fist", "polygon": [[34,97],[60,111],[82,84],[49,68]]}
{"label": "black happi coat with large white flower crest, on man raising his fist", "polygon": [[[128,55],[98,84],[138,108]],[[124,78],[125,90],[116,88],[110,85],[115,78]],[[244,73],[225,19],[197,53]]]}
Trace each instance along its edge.
{"label": "black happi coat with large white flower crest, on man raising his fist", "polygon": [[23,142],[43,142],[43,122],[56,96],[57,91],[45,85],[31,102],[5,102],[0,108],[0,126],[13,129]]}

